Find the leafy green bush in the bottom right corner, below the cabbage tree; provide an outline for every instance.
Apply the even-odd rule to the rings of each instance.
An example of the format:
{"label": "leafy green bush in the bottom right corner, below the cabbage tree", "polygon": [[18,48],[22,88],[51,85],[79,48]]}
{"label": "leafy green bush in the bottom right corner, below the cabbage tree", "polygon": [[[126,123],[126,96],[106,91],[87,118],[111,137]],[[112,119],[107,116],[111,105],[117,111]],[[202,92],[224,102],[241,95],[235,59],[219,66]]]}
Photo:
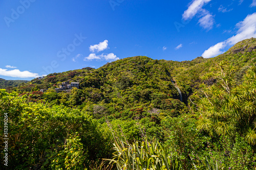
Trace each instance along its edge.
{"label": "leafy green bush in the bottom right corner, below the cabbage tree", "polygon": [[234,141],[222,136],[205,157],[194,162],[198,169],[254,169],[255,159],[251,147],[237,135]]}

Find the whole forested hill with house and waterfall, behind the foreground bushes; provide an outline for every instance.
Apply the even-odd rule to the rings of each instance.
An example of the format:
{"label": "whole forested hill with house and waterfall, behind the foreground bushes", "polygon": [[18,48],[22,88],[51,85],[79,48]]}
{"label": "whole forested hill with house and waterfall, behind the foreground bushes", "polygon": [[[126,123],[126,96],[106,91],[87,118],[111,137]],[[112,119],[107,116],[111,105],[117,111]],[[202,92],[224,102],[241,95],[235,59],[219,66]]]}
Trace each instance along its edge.
{"label": "whole forested hill with house and waterfall, behind the foreground bushes", "polygon": [[[236,84],[242,83],[246,70],[255,65],[255,38],[243,40],[226,53],[215,58],[197,57],[192,61],[153,60],[145,56],[128,57],[107,63],[98,69],[90,67],[53,73],[44,78],[36,78],[14,89],[30,96],[31,101],[46,100],[52,105],[61,104],[78,107],[93,114],[96,105],[116,118],[126,119],[129,110],[159,109],[164,115],[179,114],[188,104],[188,97],[199,89],[201,83],[208,85],[215,78],[203,80],[209,68],[227,62],[237,67],[233,77]],[[79,89],[56,93],[62,82],[79,82]],[[39,89],[49,89],[47,93]],[[177,89],[178,88],[178,89]],[[180,94],[182,102],[180,102]],[[36,92],[38,91],[38,92]],[[126,112],[120,115],[120,112]],[[101,118],[103,115],[94,115]]]}

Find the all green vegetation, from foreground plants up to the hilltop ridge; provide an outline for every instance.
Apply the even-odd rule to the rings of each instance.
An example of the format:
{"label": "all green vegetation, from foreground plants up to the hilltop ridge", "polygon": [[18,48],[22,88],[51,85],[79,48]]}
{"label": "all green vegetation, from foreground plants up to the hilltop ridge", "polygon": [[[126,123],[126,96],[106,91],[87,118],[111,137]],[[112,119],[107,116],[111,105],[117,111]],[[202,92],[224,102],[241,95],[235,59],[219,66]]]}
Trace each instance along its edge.
{"label": "all green vegetation, from foreground plants up to the hilltop ridge", "polygon": [[[79,88],[57,93],[66,81]],[[50,74],[0,89],[8,167],[256,169],[255,101],[255,38],[215,58],[136,56]]]}

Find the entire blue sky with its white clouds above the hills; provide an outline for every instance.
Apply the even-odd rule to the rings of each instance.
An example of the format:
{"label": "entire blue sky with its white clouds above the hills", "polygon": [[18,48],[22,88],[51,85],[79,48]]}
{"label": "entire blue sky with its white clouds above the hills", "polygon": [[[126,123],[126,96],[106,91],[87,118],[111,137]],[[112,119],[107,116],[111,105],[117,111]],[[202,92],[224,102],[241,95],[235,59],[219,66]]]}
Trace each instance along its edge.
{"label": "entire blue sky with its white clouds above the hills", "polygon": [[256,0],[0,1],[0,78],[147,56],[215,57],[256,37]]}

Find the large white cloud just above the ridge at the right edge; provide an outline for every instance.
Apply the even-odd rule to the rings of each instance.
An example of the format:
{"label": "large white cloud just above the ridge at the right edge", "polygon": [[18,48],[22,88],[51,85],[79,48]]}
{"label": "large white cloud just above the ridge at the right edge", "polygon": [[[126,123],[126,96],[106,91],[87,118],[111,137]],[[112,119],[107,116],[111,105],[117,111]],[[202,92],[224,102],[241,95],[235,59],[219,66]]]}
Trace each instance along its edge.
{"label": "large white cloud just above the ridge at the right edge", "polygon": [[228,38],[223,42],[219,42],[216,45],[209,47],[208,50],[206,50],[202,54],[202,57],[215,57],[223,53],[222,50],[226,46],[234,45],[244,39],[256,37],[256,12],[251,15],[247,15],[247,17],[243,21],[237,23],[236,27],[238,28],[236,35]]}

